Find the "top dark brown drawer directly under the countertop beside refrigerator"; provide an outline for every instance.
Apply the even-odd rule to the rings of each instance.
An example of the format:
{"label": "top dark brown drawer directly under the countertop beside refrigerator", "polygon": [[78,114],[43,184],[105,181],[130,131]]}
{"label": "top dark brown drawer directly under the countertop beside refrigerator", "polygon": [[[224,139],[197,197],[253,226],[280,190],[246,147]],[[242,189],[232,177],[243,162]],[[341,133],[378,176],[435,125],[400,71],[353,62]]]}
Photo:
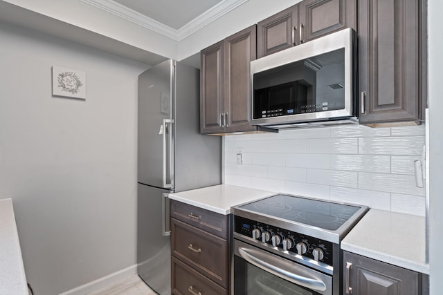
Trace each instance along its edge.
{"label": "top dark brown drawer directly under the countertop beside refrigerator", "polygon": [[226,215],[171,200],[171,217],[215,234],[215,236],[227,238],[228,216]]}

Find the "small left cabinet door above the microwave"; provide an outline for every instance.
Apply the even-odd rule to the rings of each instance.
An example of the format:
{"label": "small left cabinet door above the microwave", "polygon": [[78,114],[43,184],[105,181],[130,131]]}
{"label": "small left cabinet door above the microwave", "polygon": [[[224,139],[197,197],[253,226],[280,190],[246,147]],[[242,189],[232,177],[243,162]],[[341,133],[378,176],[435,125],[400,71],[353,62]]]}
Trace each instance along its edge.
{"label": "small left cabinet door above the microwave", "polygon": [[257,23],[257,58],[298,44],[298,5]]}

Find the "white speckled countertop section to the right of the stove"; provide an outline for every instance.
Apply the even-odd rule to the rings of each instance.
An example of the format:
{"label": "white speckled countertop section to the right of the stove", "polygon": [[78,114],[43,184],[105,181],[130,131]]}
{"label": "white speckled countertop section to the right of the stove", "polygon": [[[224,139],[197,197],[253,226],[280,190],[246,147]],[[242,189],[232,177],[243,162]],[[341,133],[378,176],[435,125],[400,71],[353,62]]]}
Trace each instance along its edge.
{"label": "white speckled countertop section to the right of the stove", "polygon": [[371,209],[343,239],[341,249],[429,274],[424,217]]}

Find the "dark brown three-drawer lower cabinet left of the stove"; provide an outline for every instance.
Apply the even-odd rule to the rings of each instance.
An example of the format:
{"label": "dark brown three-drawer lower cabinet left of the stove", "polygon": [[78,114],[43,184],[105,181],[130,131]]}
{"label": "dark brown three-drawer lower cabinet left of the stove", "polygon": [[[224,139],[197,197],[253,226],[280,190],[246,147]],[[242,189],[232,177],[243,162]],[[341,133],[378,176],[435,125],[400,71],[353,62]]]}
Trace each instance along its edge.
{"label": "dark brown three-drawer lower cabinet left of the stove", "polygon": [[172,294],[229,294],[229,220],[171,201]]}

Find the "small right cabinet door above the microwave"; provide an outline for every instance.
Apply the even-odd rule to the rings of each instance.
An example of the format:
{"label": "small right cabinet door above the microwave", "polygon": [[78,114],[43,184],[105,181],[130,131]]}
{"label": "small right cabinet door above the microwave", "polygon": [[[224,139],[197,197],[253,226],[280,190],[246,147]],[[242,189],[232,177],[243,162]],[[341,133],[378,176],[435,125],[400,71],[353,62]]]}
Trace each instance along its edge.
{"label": "small right cabinet door above the microwave", "polygon": [[356,29],[356,0],[305,0],[298,3],[300,43],[336,32]]}

